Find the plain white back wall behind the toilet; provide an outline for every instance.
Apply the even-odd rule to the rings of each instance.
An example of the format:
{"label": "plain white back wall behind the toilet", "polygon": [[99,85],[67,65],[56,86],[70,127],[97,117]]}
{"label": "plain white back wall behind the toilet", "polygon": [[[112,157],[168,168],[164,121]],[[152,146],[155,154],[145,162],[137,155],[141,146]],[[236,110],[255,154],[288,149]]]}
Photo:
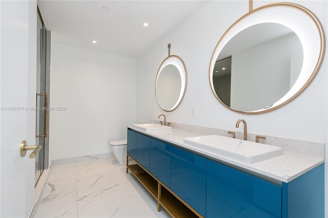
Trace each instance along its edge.
{"label": "plain white back wall behind the toilet", "polygon": [[[53,43],[52,159],[104,154],[136,122],[134,58]],[[154,86],[152,86],[154,87]]]}

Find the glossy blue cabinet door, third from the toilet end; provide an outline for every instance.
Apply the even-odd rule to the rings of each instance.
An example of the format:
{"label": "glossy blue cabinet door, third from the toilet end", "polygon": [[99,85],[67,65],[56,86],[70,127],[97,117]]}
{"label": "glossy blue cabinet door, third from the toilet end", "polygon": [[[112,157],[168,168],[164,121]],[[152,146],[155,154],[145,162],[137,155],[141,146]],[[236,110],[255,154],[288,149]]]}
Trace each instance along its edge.
{"label": "glossy blue cabinet door, third from the toilet end", "polygon": [[171,145],[156,139],[150,140],[150,172],[159,181],[171,186]]}

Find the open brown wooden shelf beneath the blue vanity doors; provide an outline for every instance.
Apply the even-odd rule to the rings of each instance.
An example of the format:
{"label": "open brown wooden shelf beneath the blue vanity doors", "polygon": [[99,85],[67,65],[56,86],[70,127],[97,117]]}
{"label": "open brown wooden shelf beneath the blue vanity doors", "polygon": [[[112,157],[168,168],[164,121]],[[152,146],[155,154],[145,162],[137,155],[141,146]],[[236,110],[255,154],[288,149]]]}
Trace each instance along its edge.
{"label": "open brown wooden shelf beneath the blue vanity doors", "polygon": [[[129,165],[129,159],[133,160],[135,164]],[[172,217],[203,217],[128,155],[127,173],[129,170],[157,200],[158,211],[163,207]]]}

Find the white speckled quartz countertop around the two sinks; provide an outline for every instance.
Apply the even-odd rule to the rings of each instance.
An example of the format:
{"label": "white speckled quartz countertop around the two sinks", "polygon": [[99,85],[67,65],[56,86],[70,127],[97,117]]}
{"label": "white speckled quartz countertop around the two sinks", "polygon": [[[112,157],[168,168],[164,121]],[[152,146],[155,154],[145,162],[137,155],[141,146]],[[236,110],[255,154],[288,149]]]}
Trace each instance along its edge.
{"label": "white speckled quartz countertop around the two sinks", "polygon": [[133,128],[132,126],[129,126],[129,128],[135,130],[136,132],[149,135],[153,138],[167,141],[169,143],[196,151],[199,154],[211,157],[212,159],[214,158],[219,161],[233,164],[235,166],[253,171],[255,173],[259,173],[260,175],[285,183],[294,180],[295,178],[303,175],[305,172],[308,172],[311,169],[315,168],[316,166],[324,163],[324,159],[322,158],[314,158],[310,156],[299,155],[299,154],[294,154],[292,152],[283,151],[283,155],[281,156],[271,158],[265,161],[257,162],[254,164],[244,164],[235,160],[224,158],[218,154],[211,154],[205,152],[201,149],[197,149],[195,147],[191,147],[183,143],[183,138],[202,136],[200,134],[186,132],[179,129],[172,129],[172,131],[166,131],[166,132],[148,133]]}

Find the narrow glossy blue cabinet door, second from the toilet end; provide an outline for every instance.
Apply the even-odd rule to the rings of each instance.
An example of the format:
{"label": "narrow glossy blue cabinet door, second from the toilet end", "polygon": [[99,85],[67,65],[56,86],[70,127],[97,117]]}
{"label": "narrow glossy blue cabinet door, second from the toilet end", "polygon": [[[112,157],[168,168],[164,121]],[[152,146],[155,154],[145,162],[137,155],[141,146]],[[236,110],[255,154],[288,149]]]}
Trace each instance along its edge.
{"label": "narrow glossy blue cabinet door, second from the toilet end", "polygon": [[137,134],[137,159],[136,161],[150,171],[150,138]]}

